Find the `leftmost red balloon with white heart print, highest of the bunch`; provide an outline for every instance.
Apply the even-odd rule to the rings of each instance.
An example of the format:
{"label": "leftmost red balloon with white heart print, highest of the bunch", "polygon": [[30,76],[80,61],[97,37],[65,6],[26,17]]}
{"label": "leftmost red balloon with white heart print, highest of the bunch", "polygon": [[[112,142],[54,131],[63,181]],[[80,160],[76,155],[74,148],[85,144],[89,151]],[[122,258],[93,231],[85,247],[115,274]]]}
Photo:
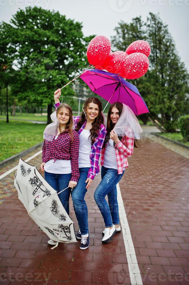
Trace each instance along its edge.
{"label": "leftmost red balloon with white heart print, highest of the bunch", "polygon": [[96,36],[87,47],[88,62],[94,66],[102,65],[104,60],[109,56],[111,43],[105,36]]}

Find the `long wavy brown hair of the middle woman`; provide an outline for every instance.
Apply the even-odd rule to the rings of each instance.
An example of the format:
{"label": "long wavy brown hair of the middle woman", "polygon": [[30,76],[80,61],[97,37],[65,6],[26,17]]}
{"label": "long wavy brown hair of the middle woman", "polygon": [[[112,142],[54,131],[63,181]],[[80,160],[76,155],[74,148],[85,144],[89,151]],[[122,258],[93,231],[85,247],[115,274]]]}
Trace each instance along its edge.
{"label": "long wavy brown hair of the middle woman", "polygon": [[[101,129],[100,125],[104,124],[104,118],[102,115],[102,103],[99,99],[95,98],[95,97],[91,97],[88,98],[85,101],[85,104],[83,106],[84,111],[87,111],[87,107],[90,103],[94,103],[97,104],[99,107],[99,114],[98,116],[95,118],[94,122],[92,122],[92,129],[90,129],[90,136],[89,138],[91,139],[91,143],[93,144],[95,142],[95,138],[97,138],[98,136],[98,132]],[[79,131],[79,129],[81,129],[81,126],[83,125],[83,123],[85,122],[86,117],[85,117],[85,113],[82,112],[81,113],[81,118],[79,119],[78,123],[77,123],[77,128],[75,129],[76,131]]]}

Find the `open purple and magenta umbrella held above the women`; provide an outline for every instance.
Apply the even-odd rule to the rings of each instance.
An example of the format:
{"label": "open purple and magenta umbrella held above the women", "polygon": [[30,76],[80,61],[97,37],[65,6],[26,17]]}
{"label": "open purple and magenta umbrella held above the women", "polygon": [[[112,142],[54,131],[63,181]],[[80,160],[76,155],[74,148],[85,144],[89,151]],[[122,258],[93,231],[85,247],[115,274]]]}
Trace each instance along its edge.
{"label": "open purple and magenta umbrella held above the women", "polygon": [[148,107],[137,87],[127,82],[119,74],[90,69],[81,74],[80,78],[89,86],[92,92],[107,100],[108,103],[112,104],[117,101],[124,103],[131,108],[135,115],[149,113]]}

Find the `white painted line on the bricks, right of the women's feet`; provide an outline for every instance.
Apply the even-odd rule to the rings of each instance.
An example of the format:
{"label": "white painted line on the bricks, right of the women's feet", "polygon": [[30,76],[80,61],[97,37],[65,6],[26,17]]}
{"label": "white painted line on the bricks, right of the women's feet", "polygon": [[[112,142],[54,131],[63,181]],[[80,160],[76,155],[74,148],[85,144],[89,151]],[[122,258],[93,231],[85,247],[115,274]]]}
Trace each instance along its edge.
{"label": "white painted line on the bricks, right of the women's feet", "polygon": [[131,237],[127,215],[126,215],[124,204],[123,204],[123,199],[121,196],[119,183],[117,184],[117,201],[119,205],[119,218],[120,218],[120,223],[121,223],[121,228],[122,228],[122,233],[123,233],[123,240],[125,244],[131,285],[134,285],[134,284],[142,285],[143,283],[142,283],[142,278],[140,275],[140,269],[137,263],[135,247],[132,242],[132,237]]}

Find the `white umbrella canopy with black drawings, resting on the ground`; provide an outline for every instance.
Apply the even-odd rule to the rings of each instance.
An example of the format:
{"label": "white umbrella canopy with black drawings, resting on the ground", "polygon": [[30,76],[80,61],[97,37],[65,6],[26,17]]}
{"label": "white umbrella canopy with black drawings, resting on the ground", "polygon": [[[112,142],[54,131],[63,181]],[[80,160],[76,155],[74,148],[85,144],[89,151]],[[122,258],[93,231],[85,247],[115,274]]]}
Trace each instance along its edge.
{"label": "white umbrella canopy with black drawings, resting on the ground", "polygon": [[28,215],[50,239],[63,243],[77,242],[74,222],[66,213],[57,191],[46,182],[35,166],[20,158],[14,186]]}

